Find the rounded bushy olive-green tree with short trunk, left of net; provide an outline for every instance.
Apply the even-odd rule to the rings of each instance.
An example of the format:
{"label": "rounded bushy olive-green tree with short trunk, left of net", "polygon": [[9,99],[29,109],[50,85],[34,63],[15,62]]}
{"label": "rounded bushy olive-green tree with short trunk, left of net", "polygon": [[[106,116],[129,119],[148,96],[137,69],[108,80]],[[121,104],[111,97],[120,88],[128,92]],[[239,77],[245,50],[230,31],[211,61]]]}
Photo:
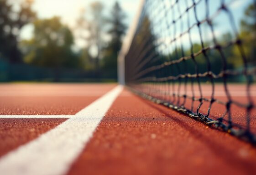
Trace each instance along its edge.
{"label": "rounded bushy olive-green tree with short trunk, left of net", "polygon": [[33,38],[22,41],[21,49],[26,54],[24,62],[53,68],[55,81],[58,81],[62,67],[79,66],[78,57],[73,53],[72,45],[72,32],[61,23],[60,18],[53,17],[36,20]]}

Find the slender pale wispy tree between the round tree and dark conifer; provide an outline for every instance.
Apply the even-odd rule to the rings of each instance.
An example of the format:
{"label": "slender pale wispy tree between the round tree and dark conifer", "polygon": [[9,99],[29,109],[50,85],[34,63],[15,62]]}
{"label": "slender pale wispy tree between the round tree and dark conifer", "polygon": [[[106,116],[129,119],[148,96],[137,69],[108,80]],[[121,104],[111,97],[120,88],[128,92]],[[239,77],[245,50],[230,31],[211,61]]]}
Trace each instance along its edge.
{"label": "slender pale wispy tree between the round tree and dark conifer", "polygon": [[[104,6],[99,1],[90,4],[89,14],[85,10],[81,11],[78,19],[78,30],[82,37],[88,42],[88,51],[94,57],[95,72],[99,76],[99,60],[102,57],[103,26],[104,26]],[[88,62],[89,64],[89,62]],[[91,67],[91,66],[89,66]]]}

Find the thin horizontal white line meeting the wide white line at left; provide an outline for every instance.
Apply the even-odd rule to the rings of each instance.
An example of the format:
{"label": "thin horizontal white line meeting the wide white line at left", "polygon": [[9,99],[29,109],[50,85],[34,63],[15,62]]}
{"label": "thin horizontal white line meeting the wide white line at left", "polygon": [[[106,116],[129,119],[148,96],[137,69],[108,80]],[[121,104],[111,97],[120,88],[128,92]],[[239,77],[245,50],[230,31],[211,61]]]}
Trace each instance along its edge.
{"label": "thin horizontal white line meeting the wide white line at left", "polygon": [[71,118],[75,115],[0,115],[0,118]]}

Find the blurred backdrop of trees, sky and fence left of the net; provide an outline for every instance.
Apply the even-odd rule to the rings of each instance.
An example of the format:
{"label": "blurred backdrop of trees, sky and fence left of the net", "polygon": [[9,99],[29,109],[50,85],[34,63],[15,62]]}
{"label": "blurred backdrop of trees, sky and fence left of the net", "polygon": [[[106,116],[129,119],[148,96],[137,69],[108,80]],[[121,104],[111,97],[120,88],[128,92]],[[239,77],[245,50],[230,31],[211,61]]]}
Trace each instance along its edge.
{"label": "blurred backdrop of trees, sky and fence left of the net", "polygon": [[0,0],[0,82],[116,82],[137,0]]}

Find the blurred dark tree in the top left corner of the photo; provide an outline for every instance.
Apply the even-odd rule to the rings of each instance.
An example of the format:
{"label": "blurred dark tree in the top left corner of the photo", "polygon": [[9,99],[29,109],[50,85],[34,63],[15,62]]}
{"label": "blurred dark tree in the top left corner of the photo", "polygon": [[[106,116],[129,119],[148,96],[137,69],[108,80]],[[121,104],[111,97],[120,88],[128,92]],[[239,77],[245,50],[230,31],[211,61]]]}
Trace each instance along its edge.
{"label": "blurred dark tree in the top left corner of the photo", "polygon": [[10,0],[0,0],[0,55],[11,63],[21,62],[18,49],[18,36],[23,26],[35,19],[36,14],[31,10],[32,0],[22,0],[18,10]]}

